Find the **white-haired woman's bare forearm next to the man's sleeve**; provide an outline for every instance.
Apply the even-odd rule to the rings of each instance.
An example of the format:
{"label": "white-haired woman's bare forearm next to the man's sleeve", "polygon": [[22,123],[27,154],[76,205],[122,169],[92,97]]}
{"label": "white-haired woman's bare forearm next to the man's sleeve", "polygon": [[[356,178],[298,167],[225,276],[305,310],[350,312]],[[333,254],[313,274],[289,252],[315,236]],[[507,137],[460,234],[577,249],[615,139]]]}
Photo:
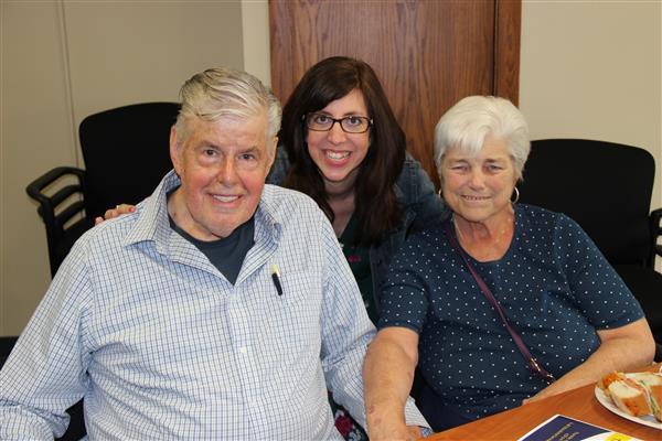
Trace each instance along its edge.
{"label": "white-haired woman's bare forearm next to the man's sleeve", "polygon": [[405,422],[405,404],[418,363],[418,334],[407,327],[386,327],[367,348],[363,387],[371,440],[413,439]]}

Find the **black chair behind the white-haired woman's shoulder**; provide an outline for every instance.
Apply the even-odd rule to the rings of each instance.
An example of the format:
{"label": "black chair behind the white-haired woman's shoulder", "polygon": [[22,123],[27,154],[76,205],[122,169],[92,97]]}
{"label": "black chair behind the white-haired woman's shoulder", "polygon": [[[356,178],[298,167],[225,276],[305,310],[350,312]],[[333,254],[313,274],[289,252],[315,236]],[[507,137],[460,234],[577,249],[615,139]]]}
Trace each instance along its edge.
{"label": "black chair behind the white-haired woman's shoulder", "polygon": [[653,157],[638,147],[584,139],[531,143],[520,201],[562,212],[591,237],[637,297],[662,343],[662,275],[654,270],[662,208],[650,211]]}

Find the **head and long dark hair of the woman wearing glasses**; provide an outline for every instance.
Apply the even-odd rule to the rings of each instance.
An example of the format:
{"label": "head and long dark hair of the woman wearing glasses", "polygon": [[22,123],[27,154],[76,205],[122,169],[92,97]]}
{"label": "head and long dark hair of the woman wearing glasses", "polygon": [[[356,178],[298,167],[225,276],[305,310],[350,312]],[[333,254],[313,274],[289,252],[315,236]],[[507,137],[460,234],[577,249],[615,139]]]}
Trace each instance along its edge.
{"label": "head and long dark hair of the woman wearing glasses", "polygon": [[[354,98],[355,107],[349,105],[348,98]],[[348,131],[343,122],[335,127],[329,118],[322,119],[325,126],[321,130],[316,129],[314,122],[319,122],[320,116],[331,117],[325,108],[333,103],[350,106],[341,109],[344,112],[339,114],[339,118],[365,118],[363,125],[356,125],[365,130]],[[354,120],[349,120],[351,121]],[[339,146],[341,140],[334,142],[335,140],[329,139],[332,130],[344,135],[348,142],[362,146],[357,149]],[[334,215],[332,205],[339,190],[351,190],[340,193],[349,193],[359,202],[354,204],[354,214],[363,232],[363,243],[378,241],[388,230],[397,227],[402,207],[398,206],[394,185],[405,161],[405,133],[370,65],[337,56],[311,67],[284,108],[279,140],[292,164],[285,185],[316,200],[329,218],[340,224],[341,228],[338,229],[343,229],[343,219],[342,216]],[[324,141],[325,148],[346,152],[348,158],[328,154],[325,161],[327,158],[316,154],[312,150],[324,149],[320,146]],[[352,160],[352,157],[357,155],[356,150],[362,148],[365,149],[362,152],[364,155]],[[327,174],[329,169],[335,175]]]}

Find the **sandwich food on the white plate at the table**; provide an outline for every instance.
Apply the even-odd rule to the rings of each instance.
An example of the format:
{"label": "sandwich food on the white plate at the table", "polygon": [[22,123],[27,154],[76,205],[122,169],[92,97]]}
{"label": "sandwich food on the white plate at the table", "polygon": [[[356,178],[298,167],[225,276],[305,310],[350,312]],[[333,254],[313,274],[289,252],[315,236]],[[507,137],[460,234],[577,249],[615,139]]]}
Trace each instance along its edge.
{"label": "sandwich food on the white plate at the table", "polygon": [[662,376],[613,372],[604,376],[598,387],[623,412],[633,417],[652,413],[662,421]]}

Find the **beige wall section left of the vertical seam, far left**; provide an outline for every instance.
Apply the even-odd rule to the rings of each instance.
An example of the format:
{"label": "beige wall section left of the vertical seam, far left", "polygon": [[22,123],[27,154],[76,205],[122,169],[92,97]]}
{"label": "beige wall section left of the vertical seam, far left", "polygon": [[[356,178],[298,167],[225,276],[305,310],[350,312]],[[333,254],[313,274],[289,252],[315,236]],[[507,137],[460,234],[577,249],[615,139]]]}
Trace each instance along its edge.
{"label": "beige wall section left of the vertical seam, far left", "polygon": [[0,334],[17,334],[50,280],[44,227],[25,185],[75,164],[61,17],[53,1],[0,2]]}

